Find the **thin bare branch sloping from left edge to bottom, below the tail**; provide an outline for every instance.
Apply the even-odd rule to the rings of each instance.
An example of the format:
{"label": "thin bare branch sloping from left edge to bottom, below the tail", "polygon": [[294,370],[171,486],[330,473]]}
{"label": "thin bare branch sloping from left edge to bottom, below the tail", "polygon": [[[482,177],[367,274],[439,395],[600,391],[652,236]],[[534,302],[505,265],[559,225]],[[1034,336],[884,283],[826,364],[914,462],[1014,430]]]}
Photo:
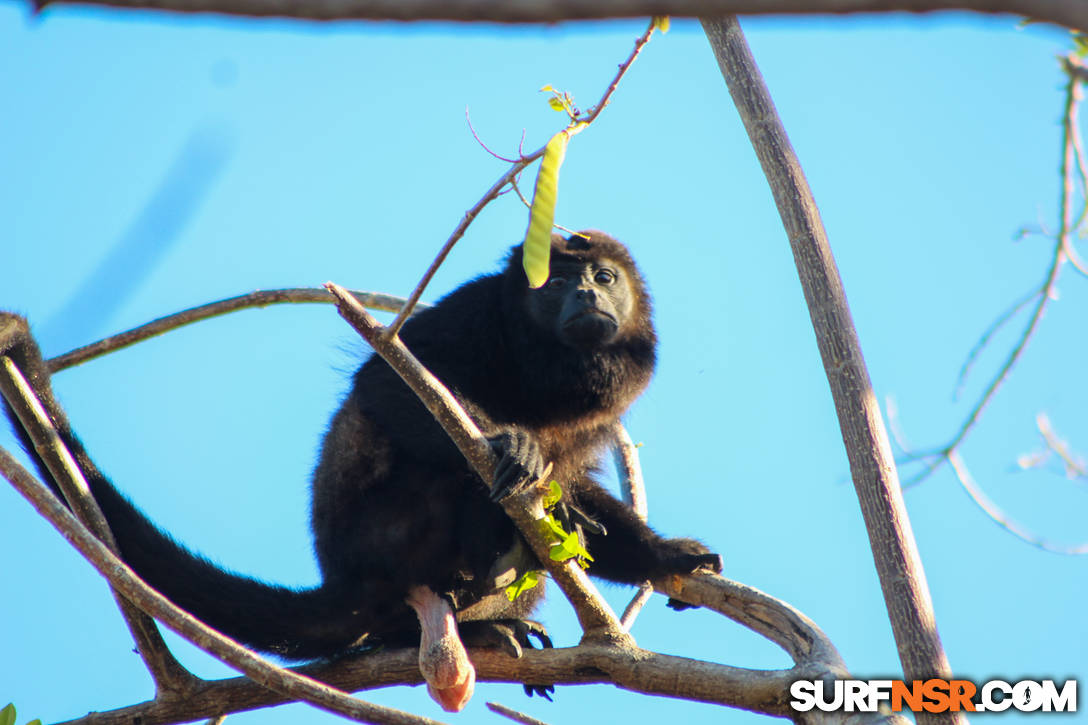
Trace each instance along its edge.
{"label": "thin bare branch sloping from left edge to bottom, below the tail", "polygon": [[264,687],[294,700],[366,723],[434,725],[435,721],[358,700],[316,679],[277,667],[224,637],[148,587],[128,566],[90,533],[40,481],[30,476],[8,451],[0,447],[0,475],[47,518],[133,604],[217,660]]}

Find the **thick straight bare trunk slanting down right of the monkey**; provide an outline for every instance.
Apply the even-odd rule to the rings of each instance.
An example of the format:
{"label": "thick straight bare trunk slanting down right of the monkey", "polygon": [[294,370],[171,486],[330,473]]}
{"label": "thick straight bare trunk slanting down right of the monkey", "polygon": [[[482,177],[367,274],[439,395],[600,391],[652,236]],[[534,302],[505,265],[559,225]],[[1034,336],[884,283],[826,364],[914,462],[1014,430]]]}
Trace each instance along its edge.
{"label": "thick straight bare trunk slanting down right of the monkey", "polygon": [[[950,676],[868,370],[816,201],[735,17],[704,19],[793,249],[905,679]],[[956,714],[918,713],[919,723]]]}

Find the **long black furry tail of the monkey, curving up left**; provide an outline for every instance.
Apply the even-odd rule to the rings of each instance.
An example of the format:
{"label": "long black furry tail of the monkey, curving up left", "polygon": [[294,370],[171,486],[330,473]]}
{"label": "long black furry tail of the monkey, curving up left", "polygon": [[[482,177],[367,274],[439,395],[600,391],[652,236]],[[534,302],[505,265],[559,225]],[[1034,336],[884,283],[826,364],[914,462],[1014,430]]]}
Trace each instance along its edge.
{"label": "long black furry tail of the monkey, curving up left", "polygon": [[[42,391],[38,391],[41,394]],[[211,627],[263,652],[312,660],[358,646],[375,624],[373,606],[360,606],[366,592],[333,591],[322,586],[290,589],[220,568],[160,530],[107,479],[72,432],[63,410],[44,401],[61,439],[75,456],[90,491],[118,541],[121,557],[147,583]],[[8,405],[5,413],[42,479],[64,496],[45,462]]]}

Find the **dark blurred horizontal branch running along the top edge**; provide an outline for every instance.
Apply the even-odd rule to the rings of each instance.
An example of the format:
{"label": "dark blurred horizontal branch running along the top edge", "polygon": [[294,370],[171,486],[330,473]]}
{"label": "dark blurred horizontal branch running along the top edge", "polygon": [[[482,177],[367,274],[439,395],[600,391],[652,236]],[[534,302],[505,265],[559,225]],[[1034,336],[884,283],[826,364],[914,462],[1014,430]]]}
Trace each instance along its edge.
{"label": "dark blurred horizontal branch running along the top edge", "polygon": [[297,17],[313,21],[395,20],[555,23],[570,20],[673,15],[840,14],[937,11],[1023,15],[1088,28],[1084,0],[36,0],[185,13]]}

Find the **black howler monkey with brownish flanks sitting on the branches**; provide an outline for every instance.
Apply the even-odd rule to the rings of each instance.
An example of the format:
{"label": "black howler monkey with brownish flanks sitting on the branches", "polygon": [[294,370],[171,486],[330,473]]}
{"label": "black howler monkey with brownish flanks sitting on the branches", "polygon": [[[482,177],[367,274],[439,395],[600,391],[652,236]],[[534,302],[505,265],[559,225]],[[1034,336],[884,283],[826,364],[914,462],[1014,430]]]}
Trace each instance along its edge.
{"label": "black howler monkey with brownish flanks sitting on the branches", "polygon": [[[554,464],[566,504],[588,523],[591,575],[638,583],[700,567],[720,570],[703,544],[659,537],[593,480],[609,427],[654,370],[651,303],[616,239],[601,232],[556,235],[552,247],[552,273],[540,290],[528,287],[517,247],[504,271],[468,282],[411,317],[401,339],[493,441],[496,496],[539,477],[544,462]],[[516,546],[519,534],[376,355],[356,372],[313,474],[322,583],[295,590],[218,568],[129,503],[72,432],[22,318],[0,317],[0,354],[10,355],[44,397],[122,557],[176,604],[235,639],[296,660],[371,642],[415,644],[420,625],[412,609],[420,605],[409,600],[422,592],[449,603],[468,644],[519,651],[529,634],[547,643],[543,629],[523,619],[542,587],[515,602],[502,590],[511,552],[524,555],[526,548]]]}

